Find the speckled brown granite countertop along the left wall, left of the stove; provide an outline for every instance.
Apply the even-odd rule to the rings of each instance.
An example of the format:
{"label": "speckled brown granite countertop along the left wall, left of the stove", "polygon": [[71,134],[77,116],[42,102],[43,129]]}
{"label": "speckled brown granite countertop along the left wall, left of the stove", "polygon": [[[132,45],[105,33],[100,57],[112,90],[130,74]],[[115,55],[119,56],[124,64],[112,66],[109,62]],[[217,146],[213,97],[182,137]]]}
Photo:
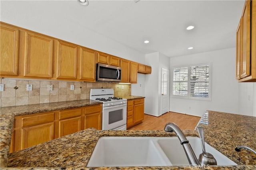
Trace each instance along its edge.
{"label": "speckled brown granite countertop along the left wall, left of the stove", "polygon": [[10,141],[12,138],[12,128],[14,117],[18,115],[28,115],[32,113],[40,113],[46,111],[54,111],[61,109],[70,109],[74,107],[90,106],[102,104],[93,100],[75,100],[67,102],[54,102],[46,104],[32,104],[22,106],[10,106],[0,108],[0,167],[5,167],[8,162],[8,153],[10,149]]}

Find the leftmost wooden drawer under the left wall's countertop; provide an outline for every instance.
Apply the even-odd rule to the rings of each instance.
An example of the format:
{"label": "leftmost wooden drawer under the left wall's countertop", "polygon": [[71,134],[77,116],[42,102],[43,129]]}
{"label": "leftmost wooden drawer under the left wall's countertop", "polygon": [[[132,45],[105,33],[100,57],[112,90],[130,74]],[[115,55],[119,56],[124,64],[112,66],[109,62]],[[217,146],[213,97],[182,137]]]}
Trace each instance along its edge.
{"label": "leftmost wooden drawer under the left wall's countertop", "polygon": [[28,117],[22,117],[22,127],[25,126],[32,126],[32,125],[39,125],[46,122],[53,122],[55,119],[54,112],[41,114],[41,115],[34,115]]}

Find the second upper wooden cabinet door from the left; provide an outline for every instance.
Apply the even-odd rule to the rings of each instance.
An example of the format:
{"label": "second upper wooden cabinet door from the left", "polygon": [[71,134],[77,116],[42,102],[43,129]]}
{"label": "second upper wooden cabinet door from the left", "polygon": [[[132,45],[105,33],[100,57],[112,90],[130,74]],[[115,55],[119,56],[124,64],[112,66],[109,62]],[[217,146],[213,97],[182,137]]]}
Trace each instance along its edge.
{"label": "second upper wooden cabinet door from the left", "polygon": [[25,33],[24,76],[52,78],[53,39]]}

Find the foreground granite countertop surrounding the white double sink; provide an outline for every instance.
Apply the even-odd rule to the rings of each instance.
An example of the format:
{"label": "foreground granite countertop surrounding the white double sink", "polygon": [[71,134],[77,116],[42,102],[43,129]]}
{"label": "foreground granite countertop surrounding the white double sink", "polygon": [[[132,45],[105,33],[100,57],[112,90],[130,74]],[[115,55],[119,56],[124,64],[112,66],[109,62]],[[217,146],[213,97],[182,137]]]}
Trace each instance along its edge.
{"label": "foreground granite countertop surrounding the white double sink", "polygon": [[[143,97],[142,97],[143,98]],[[94,103],[93,103],[94,104]],[[78,106],[80,107],[80,106]],[[4,107],[1,108],[5,109]],[[4,169],[191,169],[189,166],[162,166],[162,167],[97,167],[86,168],[88,160],[100,137],[104,136],[150,136],[150,137],[170,137],[174,133],[158,131],[98,131],[96,129],[86,129],[73,133],[46,143],[42,143],[24,150],[19,150],[11,154],[2,155],[3,146],[8,149],[10,134],[2,135],[2,129],[12,130],[12,121],[8,121],[10,115],[1,113],[1,164],[2,160],[8,158],[8,168]],[[20,114],[20,113],[16,113]],[[5,117],[6,116],[6,117]],[[13,118],[12,118],[13,119]],[[2,121],[6,120],[6,127],[2,128]],[[246,145],[256,149],[256,117],[236,115],[208,111],[203,116],[199,126],[205,128],[206,143],[222,152],[225,156],[233,160],[238,166],[210,166],[212,170],[224,169],[255,169],[256,155],[248,150],[236,152],[235,147]],[[185,130],[186,136],[198,136],[197,131]],[[4,144],[4,145],[3,145]],[[1,166],[4,167],[4,166]],[[22,167],[22,168],[21,168]],[[3,168],[1,168],[3,169]]]}

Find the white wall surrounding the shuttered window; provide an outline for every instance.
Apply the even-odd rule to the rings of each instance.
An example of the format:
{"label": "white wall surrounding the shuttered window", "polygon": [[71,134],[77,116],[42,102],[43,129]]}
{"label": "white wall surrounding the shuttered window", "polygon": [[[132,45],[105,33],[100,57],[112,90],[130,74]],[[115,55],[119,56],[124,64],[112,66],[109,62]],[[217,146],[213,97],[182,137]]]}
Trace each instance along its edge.
{"label": "white wall surrounding the shuttered window", "polygon": [[[230,48],[171,58],[170,77],[172,77],[173,66],[200,63],[212,63],[212,100],[181,99],[171,95],[170,111],[196,116],[202,116],[206,110],[239,113],[239,85],[235,79],[236,49]],[[172,85],[172,80],[170,84]]]}

